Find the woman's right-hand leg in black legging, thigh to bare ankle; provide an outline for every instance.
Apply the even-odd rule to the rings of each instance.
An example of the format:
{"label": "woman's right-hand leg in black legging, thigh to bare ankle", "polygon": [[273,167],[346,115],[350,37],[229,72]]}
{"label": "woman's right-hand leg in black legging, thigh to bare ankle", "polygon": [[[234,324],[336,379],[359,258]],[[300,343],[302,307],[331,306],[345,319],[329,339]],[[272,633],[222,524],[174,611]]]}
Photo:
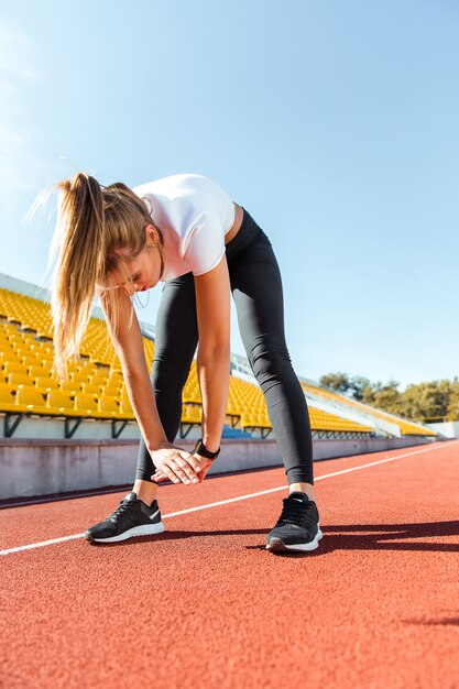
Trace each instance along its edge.
{"label": "woman's right-hand leg in black legging, thigh to bare ankle", "polygon": [[285,342],[281,273],[264,233],[229,261],[229,273],[242,341],[266,401],[291,492],[302,490],[314,500],[309,414]]}

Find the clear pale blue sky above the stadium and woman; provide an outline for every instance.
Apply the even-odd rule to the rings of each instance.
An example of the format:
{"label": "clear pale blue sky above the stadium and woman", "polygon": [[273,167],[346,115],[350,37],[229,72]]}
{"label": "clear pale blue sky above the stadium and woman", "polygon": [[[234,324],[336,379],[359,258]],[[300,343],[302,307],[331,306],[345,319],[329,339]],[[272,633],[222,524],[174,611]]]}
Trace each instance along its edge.
{"label": "clear pale blue sky above the stadium and woman", "polygon": [[270,237],[298,374],[458,375],[458,32],[456,0],[1,0],[0,272],[43,280],[21,221],[75,168],[196,172]]}

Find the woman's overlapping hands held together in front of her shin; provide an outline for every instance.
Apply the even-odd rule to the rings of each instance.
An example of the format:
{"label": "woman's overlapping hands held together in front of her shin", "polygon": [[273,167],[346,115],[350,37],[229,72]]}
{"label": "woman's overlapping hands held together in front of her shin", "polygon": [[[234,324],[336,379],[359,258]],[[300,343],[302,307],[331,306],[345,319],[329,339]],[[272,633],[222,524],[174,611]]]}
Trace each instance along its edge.
{"label": "woman's overlapping hands held together in front of her shin", "polygon": [[167,479],[173,483],[203,483],[212,463],[211,459],[174,445],[151,451],[151,457],[156,469],[151,478],[156,483]]}

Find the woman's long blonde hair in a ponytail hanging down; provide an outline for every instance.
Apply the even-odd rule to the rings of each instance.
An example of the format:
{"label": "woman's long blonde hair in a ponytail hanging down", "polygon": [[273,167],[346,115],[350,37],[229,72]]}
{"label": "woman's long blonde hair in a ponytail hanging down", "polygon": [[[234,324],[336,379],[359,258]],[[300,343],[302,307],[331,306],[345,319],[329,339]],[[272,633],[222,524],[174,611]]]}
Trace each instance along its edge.
{"label": "woman's long blonde hair in a ponytail hanging down", "polygon": [[[94,297],[114,306],[113,289],[101,287],[113,282],[114,270],[132,284],[127,263],[147,245],[144,228],[153,221],[143,200],[120,182],[102,187],[90,175],[77,173],[56,187],[61,194],[51,247],[51,308],[54,367],[66,378],[67,359],[78,356]],[[116,318],[116,308],[112,311]]]}

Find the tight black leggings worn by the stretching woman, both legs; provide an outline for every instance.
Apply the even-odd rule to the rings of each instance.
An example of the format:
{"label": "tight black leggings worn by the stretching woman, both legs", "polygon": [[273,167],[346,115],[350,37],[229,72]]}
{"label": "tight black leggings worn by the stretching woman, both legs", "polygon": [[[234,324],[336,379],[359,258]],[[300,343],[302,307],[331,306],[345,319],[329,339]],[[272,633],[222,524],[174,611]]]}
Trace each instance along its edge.
{"label": "tight black leggings worn by the stretching woman, both legs", "polygon": [[[285,343],[281,273],[270,240],[245,209],[226,255],[242,341],[266,401],[288,483],[314,483],[309,414]],[[197,343],[195,283],[187,273],[164,283],[156,317],[151,379],[170,442],[179,429],[182,391]],[[135,478],[151,481],[153,473],[141,440]]]}

